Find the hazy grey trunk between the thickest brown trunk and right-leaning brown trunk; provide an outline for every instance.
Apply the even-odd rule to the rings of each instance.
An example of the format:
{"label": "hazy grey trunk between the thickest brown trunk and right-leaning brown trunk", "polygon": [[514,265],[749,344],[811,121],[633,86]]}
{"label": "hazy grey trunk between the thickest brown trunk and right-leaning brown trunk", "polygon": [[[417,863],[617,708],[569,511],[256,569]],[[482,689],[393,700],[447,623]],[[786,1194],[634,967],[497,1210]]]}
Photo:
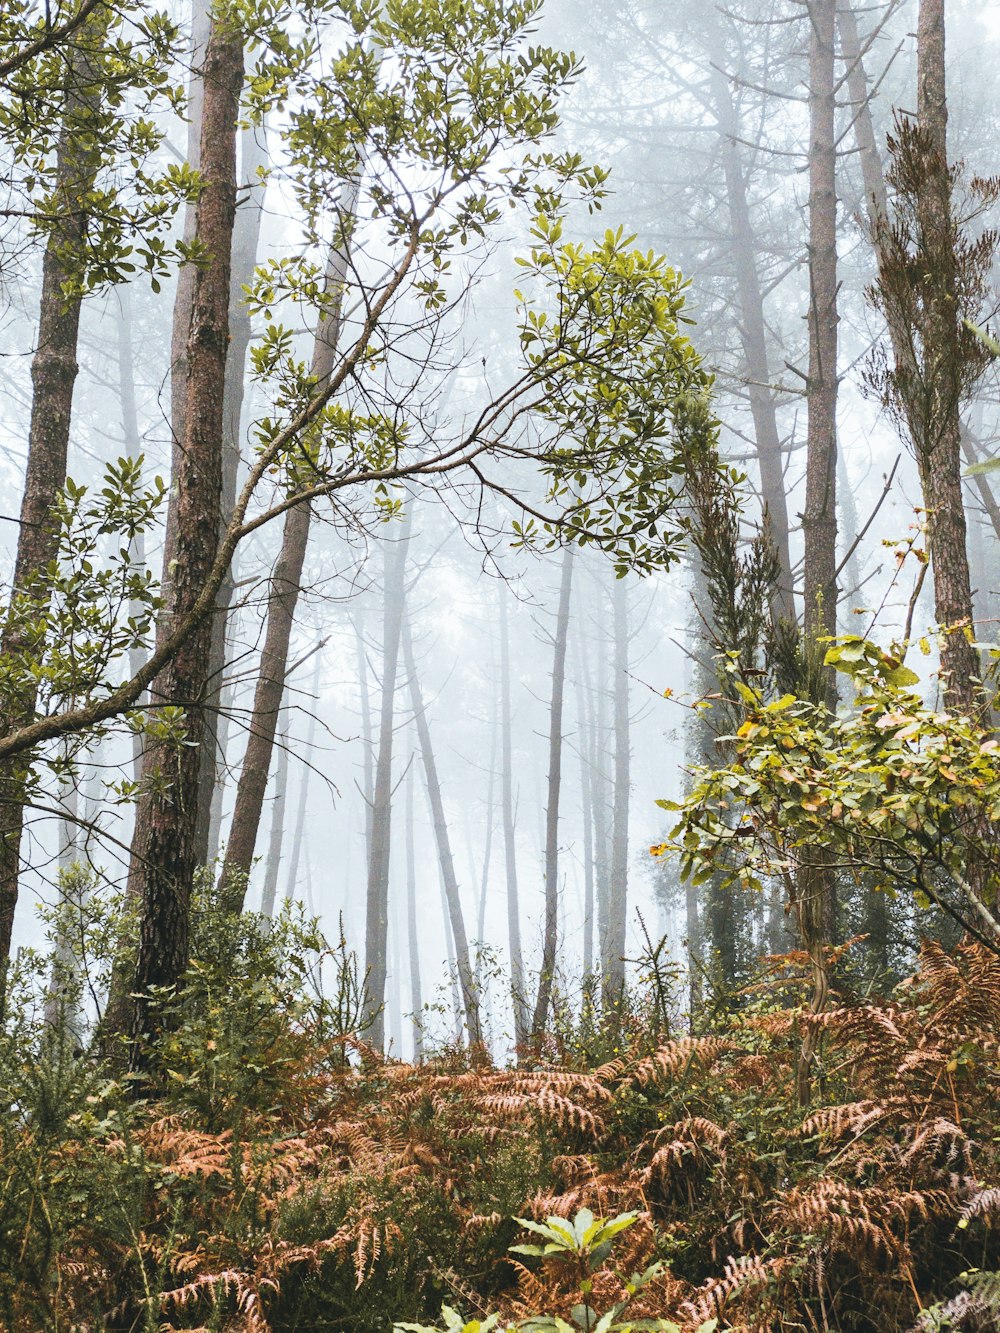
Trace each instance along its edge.
{"label": "hazy grey trunk between the thickest brown trunk and right-leaning brown trunk", "polygon": [[[236,503],[236,485],[240,471],[240,423],[243,419],[244,385],[247,383],[247,351],[252,332],[243,289],[252,281],[253,269],[257,264],[260,220],[264,213],[264,187],[260,184],[259,168],[267,167],[268,163],[264,133],[263,127],[249,127],[240,136],[240,176],[247,195],[236,209],[232,239],[229,356],[225,363],[225,400],[223,403],[223,421],[225,427],[223,495],[220,501],[223,527],[229,521],[232,507]],[[212,663],[208,690],[205,693],[205,716],[201,724],[201,781],[197,826],[195,829],[195,856],[199,864],[203,865],[207,865],[215,856],[220,828],[219,814],[221,814],[223,801],[224,760],[229,740],[228,718],[223,716],[220,709],[223,702],[225,640],[232,595],[233,568],[231,565],[223,587],[219,589],[216,609],[212,617]],[[213,832],[216,833],[215,840],[212,837]]]}

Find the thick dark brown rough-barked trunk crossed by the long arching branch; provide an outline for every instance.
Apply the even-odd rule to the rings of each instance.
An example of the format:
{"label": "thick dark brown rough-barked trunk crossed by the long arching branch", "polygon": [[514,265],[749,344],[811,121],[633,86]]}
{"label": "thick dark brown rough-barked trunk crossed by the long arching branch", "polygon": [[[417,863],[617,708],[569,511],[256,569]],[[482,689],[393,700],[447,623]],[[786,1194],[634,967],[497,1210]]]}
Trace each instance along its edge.
{"label": "thick dark brown rough-barked trunk crossed by the long arching branch", "polygon": [[[187,348],[184,443],[171,495],[173,527],[180,540],[169,581],[167,615],[157,640],[193,611],[215,567],[220,535],[219,497],[223,468],[223,399],[229,345],[229,272],[236,216],[236,121],[243,89],[243,39],[221,21],[212,23],[204,60],[201,175],[197,236],[208,260],[195,275]],[[164,556],[168,559],[168,555]],[[145,1038],[157,1024],[152,988],[176,985],[188,964],[191,889],[195,877],[195,820],[200,778],[199,709],[209,672],[211,619],[201,617],[160,672],[152,697],[185,709],[188,741],[151,745],[143,770],[160,773],[136,809],[129,874],[140,886],[140,937],[131,1034]],[[145,1062],[143,1040],[132,1045],[132,1062]]]}

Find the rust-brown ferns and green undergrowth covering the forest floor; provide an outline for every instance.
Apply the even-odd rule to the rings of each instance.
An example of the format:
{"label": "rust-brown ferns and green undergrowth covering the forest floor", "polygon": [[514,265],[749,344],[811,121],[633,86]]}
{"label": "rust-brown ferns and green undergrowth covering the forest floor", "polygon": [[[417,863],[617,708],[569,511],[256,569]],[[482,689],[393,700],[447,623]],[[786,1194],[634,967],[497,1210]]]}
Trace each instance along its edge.
{"label": "rust-brown ferns and green undergrowth covering the forest floor", "polygon": [[[981,946],[925,944],[891,998],[819,1017],[764,989],[699,1036],[635,1024],[591,1068],[413,1066],[309,996],[301,924],[247,929],[193,966],[141,1101],[13,986],[4,1330],[388,1333],[443,1308],[537,1328],[625,1301],[629,1326],[685,1333],[1000,1326],[1000,960]],[[585,1269],[511,1250],[532,1241],[517,1218],[623,1214]]]}

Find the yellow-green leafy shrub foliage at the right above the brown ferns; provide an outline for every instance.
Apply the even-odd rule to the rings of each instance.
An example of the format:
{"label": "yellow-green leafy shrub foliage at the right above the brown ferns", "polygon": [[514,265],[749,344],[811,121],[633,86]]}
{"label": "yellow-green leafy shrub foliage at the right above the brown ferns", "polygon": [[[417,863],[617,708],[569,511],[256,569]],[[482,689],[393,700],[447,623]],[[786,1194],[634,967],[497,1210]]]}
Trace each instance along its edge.
{"label": "yellow-green leafy shrub foliage at the right above the brown ferns", "polygon": [[[765,702],[736,682],[745,720],[733,762],[703,770],[671,838],[681,872],[760,890],[815,860],[868,870],[877,892],[912,892],[975,936],[1000,942],[1000,745],[992,729],[923,702],[897,656],[856,637],[827,661],[857,689],[853,709],[784,694]],[[829,864],[829,862],[827,862]]]}

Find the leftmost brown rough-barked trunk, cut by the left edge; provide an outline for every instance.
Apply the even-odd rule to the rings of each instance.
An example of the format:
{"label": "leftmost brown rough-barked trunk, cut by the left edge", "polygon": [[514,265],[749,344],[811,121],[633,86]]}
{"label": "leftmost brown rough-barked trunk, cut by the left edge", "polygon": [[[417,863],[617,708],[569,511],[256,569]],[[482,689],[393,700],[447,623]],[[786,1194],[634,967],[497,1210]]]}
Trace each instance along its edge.
{"label": "leftmost brown rough-barked trunk, cut by the left edge", "polygon": [[[55,183],[55,203],[63,215],[52,229],[41,265],[39,336],[31,364],[28,461],[12,579],[15,599],[17,593],[32,592],[39,572],[53,557],[57,545],[52,507],[65,483],[81,307],[79,297],[63,296],[63,283],[75,276],[76,257],[85,244],[89,221],[79,201],[91,191],[100,167],[100,131],[95,132],[92,120],[101,99],[95,64],[105,29],[107,13],[101,7],[81,29],[67,65],[68,92],[56,145]],[[31,629],[19,620],[12,604],[0,633],[0,653],[9,660],[36,647]],[[29,722],[36,704],[37,688],[28,684],[17,697],[9,698],[0,716],[0,730],[12,732]],[[17,905],[24,826],[21,798],[29,769],[29,754],[0,761],[0,992]]]}

